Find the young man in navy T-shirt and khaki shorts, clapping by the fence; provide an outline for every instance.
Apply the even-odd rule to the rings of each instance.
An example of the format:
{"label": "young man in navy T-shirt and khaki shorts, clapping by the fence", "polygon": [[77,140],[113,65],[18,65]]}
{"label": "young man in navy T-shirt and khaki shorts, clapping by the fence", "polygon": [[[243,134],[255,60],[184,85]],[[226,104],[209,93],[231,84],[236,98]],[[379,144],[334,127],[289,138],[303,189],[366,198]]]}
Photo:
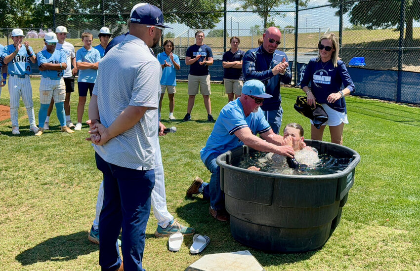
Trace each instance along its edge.
{"label": "young man in navy T-shirt and khaki shorts, clapping by the fence", "polygon": [[209,66],[213,65],[213,53],[211,48],[204,44],[203,31],[197,31],[195,38],[196,43],[191,45],[185,54],[185,65],[190,66],[190,74],[188,75],[188,108],[183,120],[191,119],[195,95],[198,94],[198,86],[200,85],[200,93],[203,95],[204,106],[207,110],[207,120],[214,121],[211,115],[209,74]]}

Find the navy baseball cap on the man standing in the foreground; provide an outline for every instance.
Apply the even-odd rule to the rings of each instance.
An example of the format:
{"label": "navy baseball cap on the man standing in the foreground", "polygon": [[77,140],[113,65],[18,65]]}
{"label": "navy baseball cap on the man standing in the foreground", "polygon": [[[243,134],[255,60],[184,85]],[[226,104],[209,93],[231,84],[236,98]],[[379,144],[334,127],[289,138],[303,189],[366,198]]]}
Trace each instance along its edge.
{"label": "navy baseball cap on the man standing in the foreground", "polygon": [[[137,6],[137,7],[136,7]],[[131,10],[131,23],[160,26],[163,28],[171,28],[164,25],[164,14],[155,5],[137,4]]]}

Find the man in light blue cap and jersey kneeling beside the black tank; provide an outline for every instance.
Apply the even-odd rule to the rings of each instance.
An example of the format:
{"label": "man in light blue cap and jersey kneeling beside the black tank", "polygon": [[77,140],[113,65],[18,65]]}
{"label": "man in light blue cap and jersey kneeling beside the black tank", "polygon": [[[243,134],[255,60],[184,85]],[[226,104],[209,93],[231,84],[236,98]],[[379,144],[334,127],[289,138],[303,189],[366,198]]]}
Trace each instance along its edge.
{"label": "man in light blue cap and jersey kneeling beside the black tank", "polygon": [[[273,133],[270,124],[265,120],[259,108],[265,98],[271,98],[271,95],[265,93],[265,86],[261,81],[246,81],[241,97],[229,102],[220,111],[206,147],[200,152],[201,160],[211,172],[210,184],[196,178],[188,189],[187,196],[202,193],[205,198],[210,198],[209,213],[219,221],[228,221],[229,216],[225,209],[223,192],[220,190],[217,156],[244,144],[262,152],[294,156],[293,148],[282,146],[283,137]],[[260,134],[261,138],[256,134]]]}

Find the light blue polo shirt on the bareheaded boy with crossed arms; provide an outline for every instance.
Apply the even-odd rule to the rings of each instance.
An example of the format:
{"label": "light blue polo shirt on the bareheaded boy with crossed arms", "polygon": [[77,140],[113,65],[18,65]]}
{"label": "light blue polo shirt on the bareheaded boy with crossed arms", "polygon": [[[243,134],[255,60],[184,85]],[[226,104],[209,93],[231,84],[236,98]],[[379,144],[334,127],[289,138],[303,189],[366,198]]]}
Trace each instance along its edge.
{"label": "light blue polo shirt on the bareheaded boy with crossed arms", "polygon": [[[77,62],[87,62],[87,63],[96,63],[101,60],[101,55],[99,51],[95,48],[91,48],[87,50],[86,48],[80,48],[76,53],[76,63]],[[87,83],[94,83],[96,80],[96,76],[98,75],[98,70],[94,69],[86,69],[86,70],[79,70],[79,78],[77,79],[78,82],[87,82]]]}

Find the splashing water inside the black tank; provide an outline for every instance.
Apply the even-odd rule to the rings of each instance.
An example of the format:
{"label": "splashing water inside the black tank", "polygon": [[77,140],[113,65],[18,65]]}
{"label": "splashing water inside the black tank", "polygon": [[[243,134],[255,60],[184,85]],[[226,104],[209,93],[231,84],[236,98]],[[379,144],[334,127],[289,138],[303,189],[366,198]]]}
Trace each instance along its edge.
{"label": "splashing water inside the black tank", "polygon": [[270,173],[325,175],[344,170],[353,160],[352,158],[340,158],[326,154],[318,155],[316,149],[313,149],[313,151],[301,150],[297,152],[295,158],[301,165],[295,169],[288,166],[285,156],[264,152],[242,155],[239,159],[234,159],[232,165],[241,168],[255,166],[260,168],[260,171]]}

